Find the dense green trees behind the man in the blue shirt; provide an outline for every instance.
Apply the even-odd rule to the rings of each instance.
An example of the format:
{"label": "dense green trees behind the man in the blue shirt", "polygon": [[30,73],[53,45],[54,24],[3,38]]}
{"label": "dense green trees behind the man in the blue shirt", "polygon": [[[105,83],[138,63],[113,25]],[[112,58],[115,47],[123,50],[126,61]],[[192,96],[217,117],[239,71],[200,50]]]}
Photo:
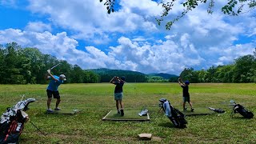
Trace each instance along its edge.
{"label": "dense green trees behind the man in the blue shirt", "polygon": [[36,48],[22,48],[17,43],[0,46],[0,83],[1,84],[33,84],[46,83],[46,70],[54,65],[52,72],[65,74],[67,83],[99,82],[98,74],[82,70],[77,65],[58,60],[49,54],[42,54]]}

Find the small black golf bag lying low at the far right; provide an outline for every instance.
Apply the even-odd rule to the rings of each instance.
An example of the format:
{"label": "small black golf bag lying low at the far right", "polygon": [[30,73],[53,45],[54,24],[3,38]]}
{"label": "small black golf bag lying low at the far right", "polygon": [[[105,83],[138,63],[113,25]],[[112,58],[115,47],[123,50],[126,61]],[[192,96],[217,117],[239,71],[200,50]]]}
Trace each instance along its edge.
{"label": "small black golf bag lying low at the far right", "polygon": [[246,108],[243,107],[242,105],[235,103],[231,113],[231,117],[233,117],[234,114],[236,113],[241,114],[244,118],[249,118],[249,119],[254,118],[254,113],[252,113],[249,110],[246,110]]}

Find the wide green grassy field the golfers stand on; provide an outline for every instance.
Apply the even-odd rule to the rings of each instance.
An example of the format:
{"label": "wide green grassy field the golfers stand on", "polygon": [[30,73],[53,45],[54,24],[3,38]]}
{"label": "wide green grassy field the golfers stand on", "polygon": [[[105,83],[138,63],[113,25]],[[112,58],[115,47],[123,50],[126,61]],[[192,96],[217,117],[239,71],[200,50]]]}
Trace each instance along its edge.
{"label": "wide green grassy field the golfers stand on", "polygon": [[[186,117],[187,128],[174,128],[166,116],[158,114],[158,99],[167,98],[182,110],[182,88],[178,83],[130,83],[124,86],[125,110],[143,106],[150,111],[150,122],[102,121],[115,110],[114,85],[63,84],[60,107],[82,110],[79,114],[46,114],[46,85],[0,85],[0,112],[25,98],[36,98],[27,114],[30,122],[46,133],[41,134],[30,122],[26,123],[21,143],[144,143],[138,134],[153,135],[147,143],[254,143],[256,120],[236,114],[230,118],[230,100],[256,114],[255,84],[190,84],[190,99],[197,108],[222,108],[225,114]],[[55,100],[52,102],[54,108]]]}

